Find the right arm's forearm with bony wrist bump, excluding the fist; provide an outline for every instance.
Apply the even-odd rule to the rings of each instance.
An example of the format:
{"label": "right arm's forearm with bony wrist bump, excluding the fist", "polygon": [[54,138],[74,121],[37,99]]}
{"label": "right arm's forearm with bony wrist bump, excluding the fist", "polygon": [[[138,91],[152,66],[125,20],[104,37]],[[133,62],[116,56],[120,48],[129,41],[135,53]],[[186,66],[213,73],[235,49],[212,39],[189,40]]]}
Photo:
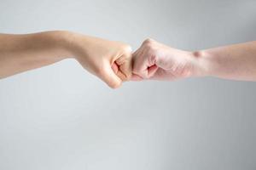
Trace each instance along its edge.
{"label": "right arm's forearm with bony wrist bump, excluding the fist", "polygon": [[246,42],[193,53],[199,76],[256,81],[256,42]]}

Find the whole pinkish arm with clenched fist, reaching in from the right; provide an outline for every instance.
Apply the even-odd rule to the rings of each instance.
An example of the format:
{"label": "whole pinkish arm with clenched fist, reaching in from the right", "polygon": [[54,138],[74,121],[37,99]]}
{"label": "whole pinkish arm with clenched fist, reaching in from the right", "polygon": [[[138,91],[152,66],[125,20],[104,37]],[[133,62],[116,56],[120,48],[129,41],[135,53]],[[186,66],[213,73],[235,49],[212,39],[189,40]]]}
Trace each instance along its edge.
{"label": "whole pinkish arm with clenched fist, reaching in from the right", "polygon": [[133,54],[134,81],[207,76],[256,81],[256,42],[189,52],[147,39]]}

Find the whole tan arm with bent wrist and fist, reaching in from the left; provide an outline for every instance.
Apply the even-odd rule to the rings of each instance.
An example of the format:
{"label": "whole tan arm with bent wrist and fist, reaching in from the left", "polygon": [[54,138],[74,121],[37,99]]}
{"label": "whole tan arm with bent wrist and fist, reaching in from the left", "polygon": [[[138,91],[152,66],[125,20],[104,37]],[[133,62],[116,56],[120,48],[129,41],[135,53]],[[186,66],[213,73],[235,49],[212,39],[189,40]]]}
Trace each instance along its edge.
{"label": "whole tan arm with bent wrist and fist, reaching in from the left", "polygon": [[0,78],[74,58],[90,73],[119,88],[131,78],[131,47],[70,31],[0,34]]}

